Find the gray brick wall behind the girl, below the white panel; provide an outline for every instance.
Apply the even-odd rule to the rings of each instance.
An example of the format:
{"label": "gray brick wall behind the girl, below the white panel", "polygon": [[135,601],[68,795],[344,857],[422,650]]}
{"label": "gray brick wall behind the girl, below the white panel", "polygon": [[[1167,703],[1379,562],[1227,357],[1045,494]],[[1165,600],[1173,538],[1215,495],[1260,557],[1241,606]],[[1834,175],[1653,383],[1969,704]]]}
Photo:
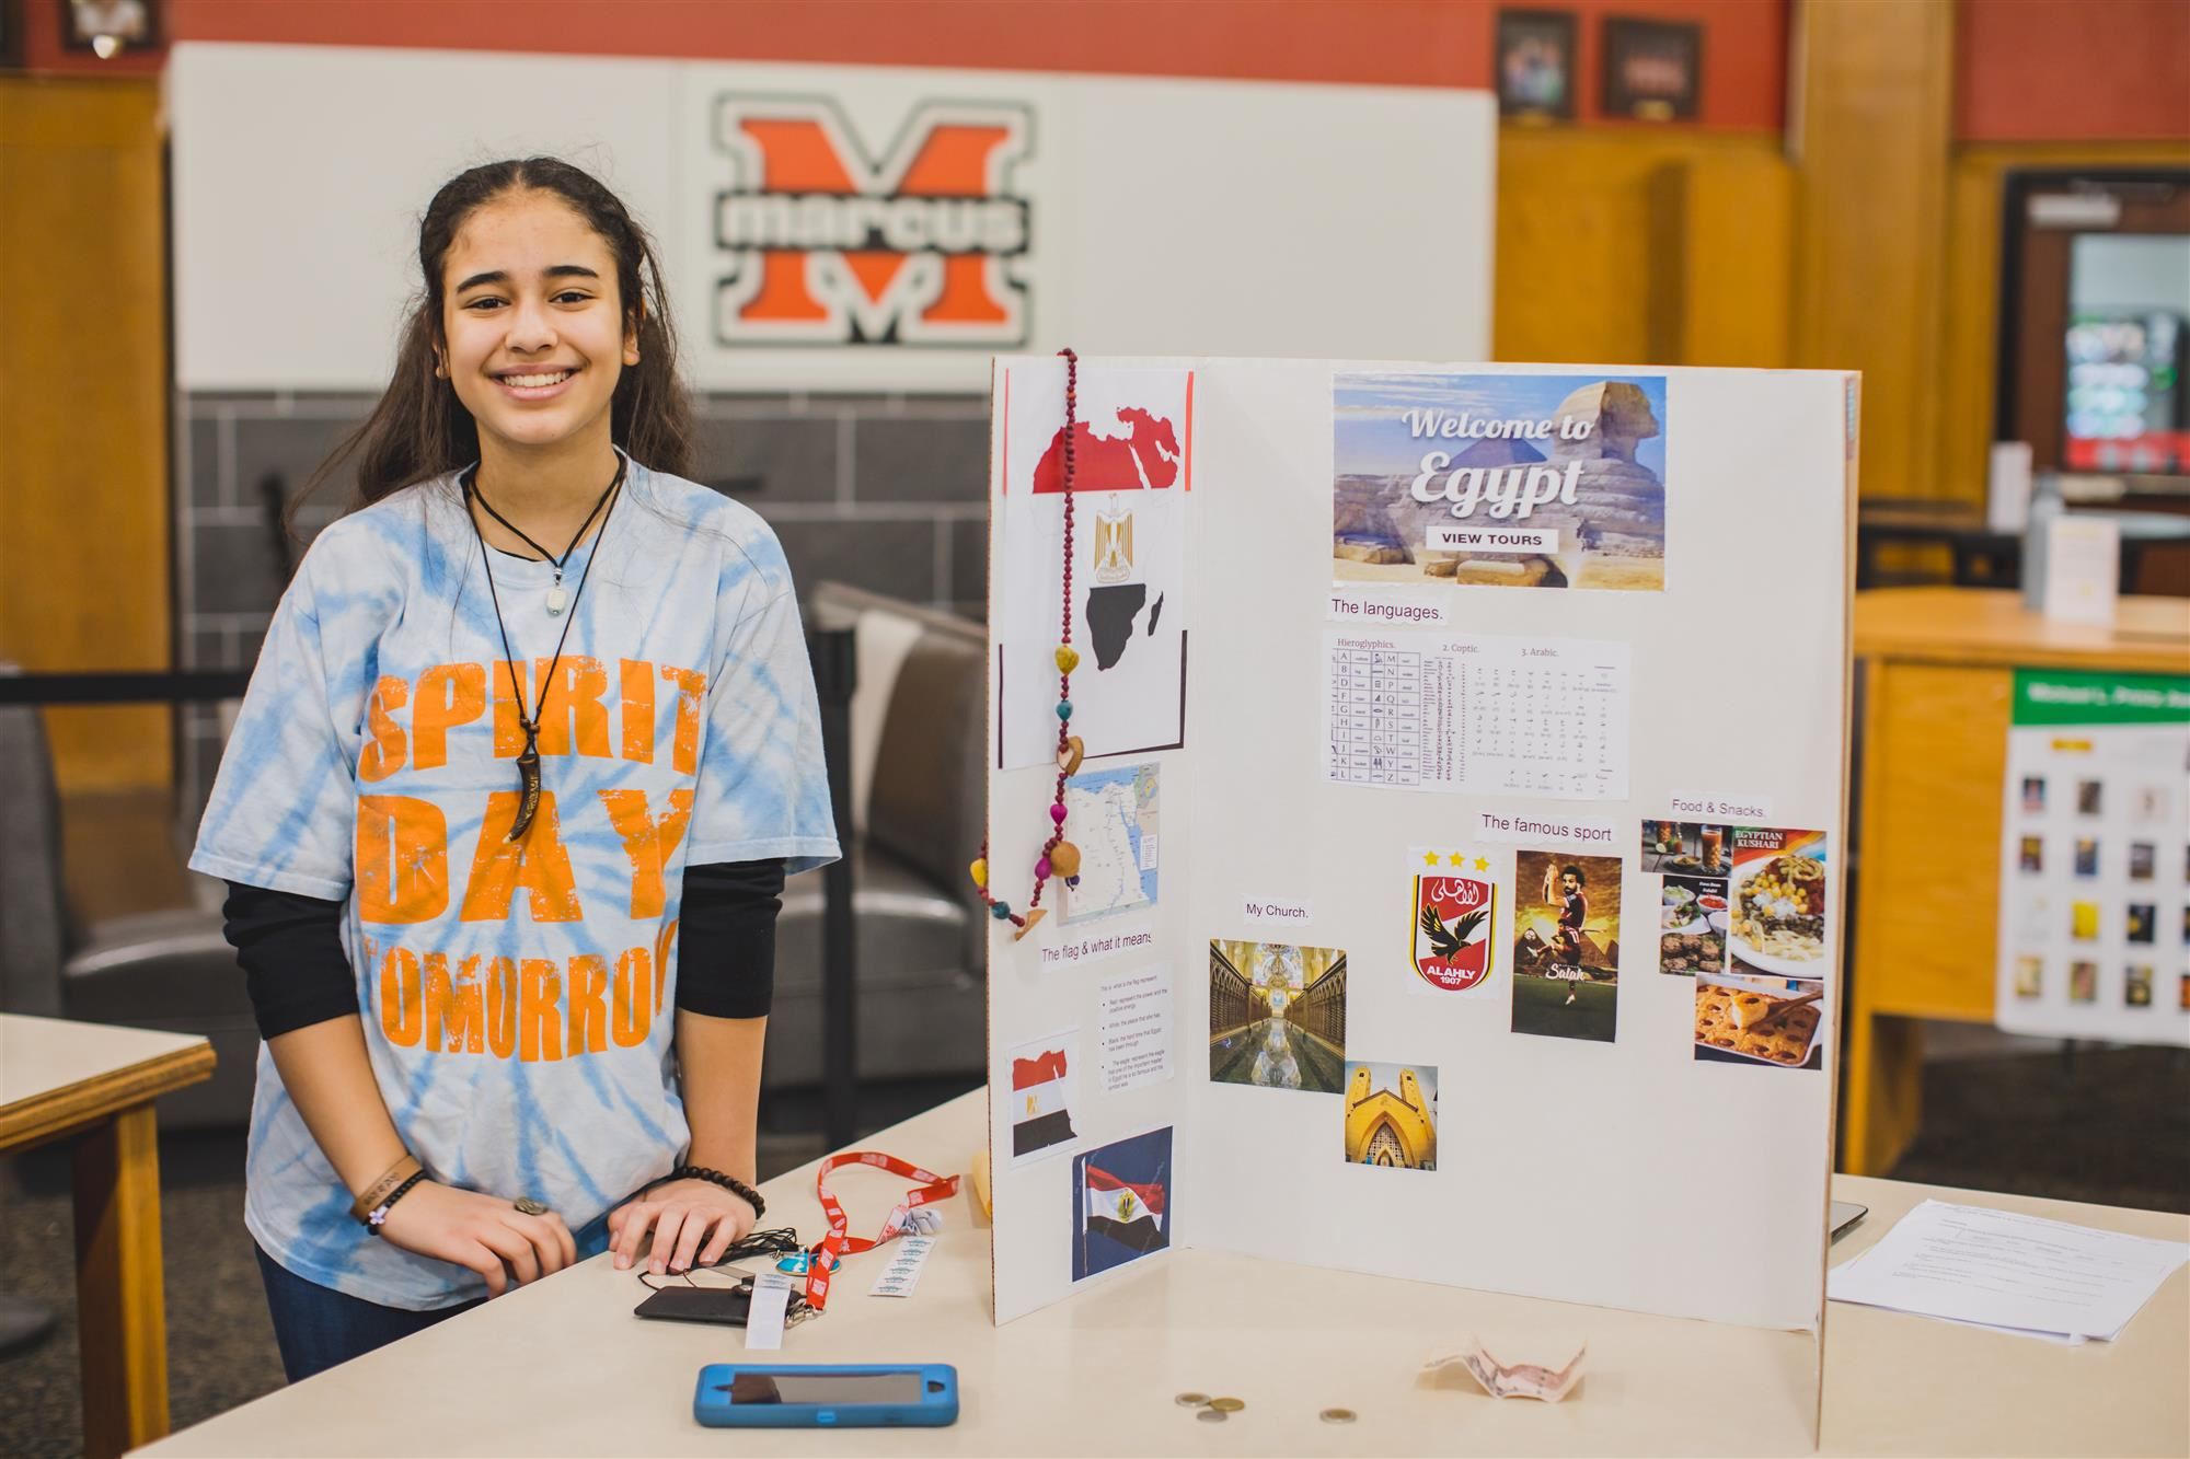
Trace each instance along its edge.
{"label": "gray brick wall behind the girl, below the white panel", "polygon": [[[182,666],[247,668],[287,581],[269,493],[296,493],[361,394],[184,394],[175,403],[175,624]],[[758,510],[804,589],[823,578],[979,616],[988,596],[988,399],[701,397],[696,480]],[[309,541],[348,482],[298,515]],[[204,804],[219,716],[188,708],[182,804]]]}

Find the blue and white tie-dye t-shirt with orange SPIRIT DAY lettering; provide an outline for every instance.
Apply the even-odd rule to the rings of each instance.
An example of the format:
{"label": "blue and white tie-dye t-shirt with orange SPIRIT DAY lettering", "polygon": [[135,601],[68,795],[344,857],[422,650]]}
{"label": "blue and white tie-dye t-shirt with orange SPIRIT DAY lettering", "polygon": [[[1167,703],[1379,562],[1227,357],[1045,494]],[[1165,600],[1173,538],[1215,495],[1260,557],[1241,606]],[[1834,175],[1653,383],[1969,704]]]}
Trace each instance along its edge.
{"label": "blue and white tie-dye t-shirt with orange SPIRIT DAY lettering", "polygon": [[[530,705],[548,563],[486,554]],[[631,464],[548,686],[539,813],[453,478],[326,528],[267,631],[191,865],[344,900],[366,1047],[427,1172],[576,1231],[688,1146],[670,1038],[683,868],[837,857],[791,572],[747,508]],[[350,1216],[258,1052],[245,1225],[291,1273],[394,1308],[484,1293]]]}

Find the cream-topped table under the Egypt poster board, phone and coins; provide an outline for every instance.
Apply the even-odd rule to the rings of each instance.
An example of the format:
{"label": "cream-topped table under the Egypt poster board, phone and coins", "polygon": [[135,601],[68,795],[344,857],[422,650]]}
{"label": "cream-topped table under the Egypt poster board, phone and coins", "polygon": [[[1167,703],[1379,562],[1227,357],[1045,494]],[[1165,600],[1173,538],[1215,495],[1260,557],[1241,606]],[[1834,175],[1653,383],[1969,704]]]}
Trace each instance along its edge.
{"label": "cream-topped table under the Egypt poster board, phone and coins", "polygon": [[[966,1170],[988,1135],[981,1091],[867,1141],[929,1170]],[[839,1174],[852,1227],[880,1222],[898,1183]],[[769,1181],[769,1220],[821,1231],[812,1165]],[[1925,1196],[2137,1236],[2190,1238],[2190,1218],[1837,1176],[1870,1205],[1835,1249],[1855,1255]],[[1305,1192],[1303,1198],[1312,1198]],[[1616,1200],[1612,1203],[1618,1205]],[[729,1435],[692,1420],[703,1363],[740,1358],[731,1330],[631,1317],[633,1273],[593,1257],[355,1363],[186,1428],[147,1455],[1765,1455],[1811,1452],[1818,1343],[1391,1277],[1172,1251],[1095,1279],[1007,1328],[990,1321],[990,1244],[968,1196],[909,1299],[872,1297],[880,1257],[852,1257],[830,1310],[793,1328],[784,1363],[955,1363],[953,1428]],[[1607,1207],[1610,1209],[1610,1207]],[[1064,1211],[1058,1214],[1064,1218]],[[1555,1214],[1566,1231],[1572,1214]],[[1730,1251],[1739,1249],[1732,1240]],[[1739,1257],[1728,1277],[1739,1279]],[[707,1279],[707,1277],[701,1277]],[[1463,1376],[1426,1378],[1434,1349],[1480,1334],[1513,1356],[1588,1339],[1559,1406],[1494,1402]],[[1568,1349],[1570,1352],[1570,1349]],[[1505,1354],[1500,1354],[1505,1356]],[[1833,1303],[1824,1448],[1835,1455],[2183,1455],[2190,1271],[2118,1343],[2032,1339]],[[1196,1422],[1180,1391],[1246,1411]],[[1318,1422],[1347,1406],[1356,1424]]]}

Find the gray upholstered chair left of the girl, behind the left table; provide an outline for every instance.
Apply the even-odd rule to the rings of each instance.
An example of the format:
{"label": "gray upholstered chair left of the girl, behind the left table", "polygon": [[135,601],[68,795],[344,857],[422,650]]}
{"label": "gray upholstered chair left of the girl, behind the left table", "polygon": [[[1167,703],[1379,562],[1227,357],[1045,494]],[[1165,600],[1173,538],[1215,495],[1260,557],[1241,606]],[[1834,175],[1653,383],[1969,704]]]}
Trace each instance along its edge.
{"label": "gray upholstered chair left of the girl, behind the left table", "polygon": [[160,1100],[162,1128],[250,1117],[258,1027],[217,911],[85,924],[61,881],[61,800],[37,708],[0,705],[0,1012],[212,1041],[212,1078]]}

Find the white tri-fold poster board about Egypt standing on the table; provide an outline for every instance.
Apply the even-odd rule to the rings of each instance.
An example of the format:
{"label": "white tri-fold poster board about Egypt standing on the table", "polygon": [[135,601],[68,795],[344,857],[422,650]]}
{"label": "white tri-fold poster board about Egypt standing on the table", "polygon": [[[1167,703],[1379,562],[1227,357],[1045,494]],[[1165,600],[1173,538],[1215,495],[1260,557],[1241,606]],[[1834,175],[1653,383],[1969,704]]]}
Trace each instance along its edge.
{"label": "white tri-fold poster board about Egypt standing on the table", "polygon": [[1069,596],[1064,394],[996,361],[1014,914],[1067,613],[1080,754],[990,944],[996,1321],[1209,1247],[1816,1330],[1855,377],[1082,359]]}

